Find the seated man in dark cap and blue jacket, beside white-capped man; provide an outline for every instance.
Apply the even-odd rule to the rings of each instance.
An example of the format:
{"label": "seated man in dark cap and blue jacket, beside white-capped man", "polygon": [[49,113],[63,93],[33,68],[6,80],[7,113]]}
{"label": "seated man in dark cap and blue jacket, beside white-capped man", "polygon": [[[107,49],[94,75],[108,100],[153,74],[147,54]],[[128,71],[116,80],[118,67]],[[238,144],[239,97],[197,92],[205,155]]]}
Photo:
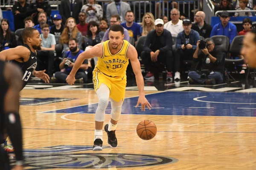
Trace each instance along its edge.
{"label": "seated man in dark cap and blue jacket, beside white-capped man", "polygon": [[183,20],[184,31],[177,36],[176,48],[178,56],[175,57],[175,80],[180,79],[180,65],[184,60],[193,60],[193,54],[197,48],[196,44],[200,40],[198,31],[191,29],[192,21],[190,18]]}

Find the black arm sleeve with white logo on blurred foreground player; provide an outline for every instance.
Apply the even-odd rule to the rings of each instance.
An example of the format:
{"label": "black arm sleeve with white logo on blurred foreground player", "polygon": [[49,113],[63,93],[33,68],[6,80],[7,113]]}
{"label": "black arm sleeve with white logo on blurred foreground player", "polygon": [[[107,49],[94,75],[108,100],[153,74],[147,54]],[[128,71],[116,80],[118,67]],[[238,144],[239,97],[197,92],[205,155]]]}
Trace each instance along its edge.
{"label": "black arm sleeve with white logo on blurred foreground player", "polygon": [[6,130],[14,147],[17,164],[22,164],[22,130],[20,123],[20,115],[15,112],[6,113]]}

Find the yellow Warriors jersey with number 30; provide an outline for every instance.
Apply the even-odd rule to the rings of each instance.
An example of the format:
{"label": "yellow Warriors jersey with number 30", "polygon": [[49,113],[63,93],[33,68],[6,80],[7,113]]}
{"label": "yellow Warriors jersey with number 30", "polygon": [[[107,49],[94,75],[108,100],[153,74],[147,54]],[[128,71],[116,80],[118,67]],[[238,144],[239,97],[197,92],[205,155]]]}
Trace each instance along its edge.
{"label": "yellow Warriors jersey with number 30", "polygon": [[110,77],[125,76],[129,63],[126,54],[130,43],[126,40],[123,41],[122,48],[115,55],[110,52],[109,40],[102,42],[103,55],[101,58],[99,57],[95,68]]}

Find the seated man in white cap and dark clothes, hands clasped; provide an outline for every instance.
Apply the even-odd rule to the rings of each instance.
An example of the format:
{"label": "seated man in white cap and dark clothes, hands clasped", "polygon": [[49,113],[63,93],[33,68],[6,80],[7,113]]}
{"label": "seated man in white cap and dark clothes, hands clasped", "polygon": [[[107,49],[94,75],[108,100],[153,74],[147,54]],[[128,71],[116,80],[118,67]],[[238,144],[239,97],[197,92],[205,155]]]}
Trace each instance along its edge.
{"label": "seated man in white cap and dark clothes, hands clasped", "polygon": [[144,77],[153,80],[156,65],[164,64],[167,69],[167,80],[172,80],[172,34],[163,28],[163,20],[157,19],[154,22],[155,29],[149,31],[144,44],[144,51],[141,53],[147,75]]}

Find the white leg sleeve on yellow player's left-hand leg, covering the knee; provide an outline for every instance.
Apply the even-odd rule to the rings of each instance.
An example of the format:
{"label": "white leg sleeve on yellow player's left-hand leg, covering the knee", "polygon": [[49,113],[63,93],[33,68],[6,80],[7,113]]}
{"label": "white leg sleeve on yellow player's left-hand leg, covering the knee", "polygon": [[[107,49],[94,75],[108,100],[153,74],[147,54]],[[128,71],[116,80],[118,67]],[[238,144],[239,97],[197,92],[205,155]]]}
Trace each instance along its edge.
{"label": "white leg sleeve on yellow player's left-hand leg, covering the knee", "polygon": [[96,91],[96,94],[99,98],[99,104],[96,109],[95,113],[95,121],[97,122],[104,122],[105,120],[105,110],[108,106],[108,99],[109,99],[110,90],[107,85],[101,84]]}

